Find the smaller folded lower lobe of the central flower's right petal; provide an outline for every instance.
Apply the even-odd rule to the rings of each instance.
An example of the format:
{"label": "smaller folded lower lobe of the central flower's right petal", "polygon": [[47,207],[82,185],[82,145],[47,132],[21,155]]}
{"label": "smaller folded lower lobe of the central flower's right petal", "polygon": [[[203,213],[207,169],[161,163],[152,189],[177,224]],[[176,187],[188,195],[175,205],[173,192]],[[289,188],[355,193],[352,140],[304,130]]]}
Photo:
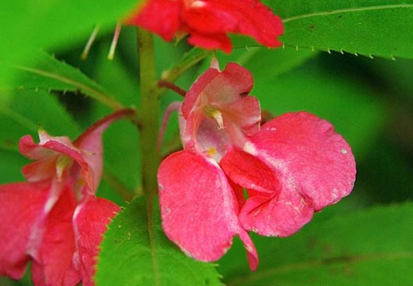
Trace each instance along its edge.
{"label": "smaller folded lower lobe of the central flower's right petal", "polygon": [[294,189],[282,188],[278,181],[282,174],[257,157],[234,148],[222,158],[220,166],[231,181],[248,190],[249,198],[240,212],[246,230],[288,236],[313,217],[313,208],[304,197]]}

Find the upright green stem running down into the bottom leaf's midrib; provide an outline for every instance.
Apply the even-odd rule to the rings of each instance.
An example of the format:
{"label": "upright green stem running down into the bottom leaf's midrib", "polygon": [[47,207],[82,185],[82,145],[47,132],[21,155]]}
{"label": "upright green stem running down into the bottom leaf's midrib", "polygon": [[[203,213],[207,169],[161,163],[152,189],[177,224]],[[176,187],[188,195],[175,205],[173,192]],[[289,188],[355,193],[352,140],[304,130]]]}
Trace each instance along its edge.
{"label": "upright green stem running down into the bottom leaf's midrib", "polygon": [[153,280],[160,285],[158,259],[155,250],[153,225],[153,199],[158,191],[156,174],[160,163],[160,155],[156,148],[158,139],[158,94],[153,36],[150,32],[137,28],[139,65],[140,65],[140,138],[142,150],[142,186],[147,195],[147,219],[151,256],[153,264]]}

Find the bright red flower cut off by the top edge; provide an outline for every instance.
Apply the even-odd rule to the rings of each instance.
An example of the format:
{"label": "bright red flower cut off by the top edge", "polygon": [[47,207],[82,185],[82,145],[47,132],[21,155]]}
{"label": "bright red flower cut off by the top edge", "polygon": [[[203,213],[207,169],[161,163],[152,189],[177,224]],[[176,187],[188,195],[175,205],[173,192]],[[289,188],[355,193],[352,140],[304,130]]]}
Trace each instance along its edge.
{"label": "bright red flower cut off by the top edge", "polygon": [[282,45],[277,36],[283,26],[279,17],[258,0],[149,0],[126,21],[171,41],[189,34],[191,45],[230,53],[228,32],[252,36],[267,47]]}

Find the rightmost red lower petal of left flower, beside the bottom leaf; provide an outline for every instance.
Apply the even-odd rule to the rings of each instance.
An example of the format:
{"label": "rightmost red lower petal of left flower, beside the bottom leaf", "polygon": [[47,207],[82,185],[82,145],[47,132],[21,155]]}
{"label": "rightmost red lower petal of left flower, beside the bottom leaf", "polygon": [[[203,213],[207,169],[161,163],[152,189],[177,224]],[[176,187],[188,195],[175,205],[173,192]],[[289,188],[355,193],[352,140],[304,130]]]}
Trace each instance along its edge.
{"label": "rightmost red lower petal of left flower, beside the bottom leaf", "polygon": [[106,199],[90,196],[87,201],[76,208],[73,217],[76,239],[76,264],[82,276],[84,286],[93,286],[96,272],[98,245],[103,239],[110,219],[119,212],[115,203]]}

